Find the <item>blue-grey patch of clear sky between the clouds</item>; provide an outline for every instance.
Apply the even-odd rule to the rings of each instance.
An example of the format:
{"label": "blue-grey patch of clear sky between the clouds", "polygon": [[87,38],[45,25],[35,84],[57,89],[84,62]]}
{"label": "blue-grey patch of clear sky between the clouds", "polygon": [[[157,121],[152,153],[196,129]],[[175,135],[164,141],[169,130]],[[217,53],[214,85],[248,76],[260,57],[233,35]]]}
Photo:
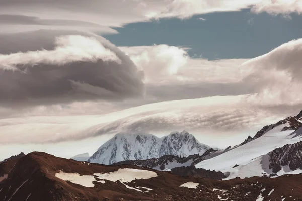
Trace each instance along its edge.
{"label": "blue-grey patch of clear sky between the clouds", "polygon": [[[205,21],[199,18],[206,19]],[[189,47],[191,57],[214,59],[254,58],[302,36],[302,16],[292,19],[267,13],[239,12],[195,15],[140,22],[115,28],[105,37],[117,46],[167,44]]]}

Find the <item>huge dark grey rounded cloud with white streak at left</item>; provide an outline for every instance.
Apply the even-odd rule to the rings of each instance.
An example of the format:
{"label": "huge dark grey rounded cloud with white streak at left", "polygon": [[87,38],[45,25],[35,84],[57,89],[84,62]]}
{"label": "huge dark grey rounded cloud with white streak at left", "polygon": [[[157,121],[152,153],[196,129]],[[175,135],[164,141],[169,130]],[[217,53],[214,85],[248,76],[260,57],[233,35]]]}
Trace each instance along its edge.
{"label": "huge dark grey rounded cloud with white streak at left", "polygon": [[0,37],[0,102],[54,104],[144,94],[135,64],[103,37],[35,31]]}

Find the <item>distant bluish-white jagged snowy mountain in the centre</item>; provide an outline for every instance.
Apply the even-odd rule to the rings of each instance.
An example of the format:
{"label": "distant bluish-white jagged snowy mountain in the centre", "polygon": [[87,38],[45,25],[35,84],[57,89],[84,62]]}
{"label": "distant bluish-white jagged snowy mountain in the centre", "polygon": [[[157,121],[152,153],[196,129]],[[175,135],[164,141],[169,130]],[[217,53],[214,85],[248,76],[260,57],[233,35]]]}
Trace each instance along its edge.
{"label": "distant bluish-white jagged snowy mountain in the centre", "polygon": [[112,164],[125,160],[143,160],[164,155],[187,157],[192,154],[202,155],[209,146],[199,143],[187,131],[172,132],[158,138],[151,134],[118,133],[103,144],[88,162]]}

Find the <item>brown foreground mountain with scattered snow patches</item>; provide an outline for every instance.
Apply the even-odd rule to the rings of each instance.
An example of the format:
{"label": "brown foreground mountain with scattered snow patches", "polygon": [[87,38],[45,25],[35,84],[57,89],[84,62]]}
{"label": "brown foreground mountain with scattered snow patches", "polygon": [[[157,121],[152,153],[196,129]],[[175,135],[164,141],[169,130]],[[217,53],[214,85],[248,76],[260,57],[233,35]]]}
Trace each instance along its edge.
{"label": "brown foreground mountain with scattered snow patches", "polygon": [[107,166],[42,152],[17,161],[0,181],[3,201],[302,200],[302,175],[216,181],[131,165]]}

